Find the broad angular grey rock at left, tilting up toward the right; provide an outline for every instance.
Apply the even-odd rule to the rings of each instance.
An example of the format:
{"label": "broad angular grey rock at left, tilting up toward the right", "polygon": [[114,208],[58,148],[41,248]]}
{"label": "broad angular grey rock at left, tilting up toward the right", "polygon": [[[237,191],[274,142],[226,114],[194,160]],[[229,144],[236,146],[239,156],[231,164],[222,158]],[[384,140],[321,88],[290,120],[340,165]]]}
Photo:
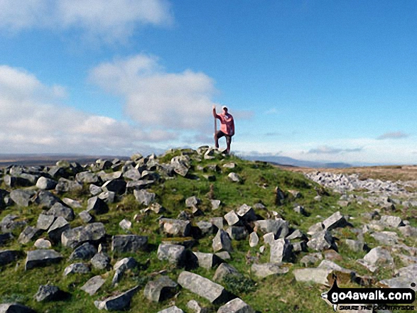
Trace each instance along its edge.
{"label": "broad angular grey rock at left, tilting up toward the right", "polygon": [[63,246],[75,248],[87,241],[94,243],[104,238],[106,229],[102,223],[92,223],[86,226],[78,226],[68,229],[61,235]]}

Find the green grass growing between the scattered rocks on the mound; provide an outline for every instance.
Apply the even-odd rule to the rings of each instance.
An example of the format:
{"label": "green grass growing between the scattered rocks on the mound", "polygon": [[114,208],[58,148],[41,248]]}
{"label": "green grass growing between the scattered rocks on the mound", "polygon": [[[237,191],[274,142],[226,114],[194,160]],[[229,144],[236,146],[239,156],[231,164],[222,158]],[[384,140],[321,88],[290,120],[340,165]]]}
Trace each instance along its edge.
{"label": "green grass growing between the scattered rocks on the mound", "polygon": [[[180,153],[181,151],[176,150],[173,153],[163,155],[158,161],[160,163],[169,163],[173,156],[180,155]],[[192,160],[193,158],[195,158],[195,155],[192,157]],[[227,169],[222,167],[222,165],[229,162],[236,163],[237,168]],[[194,159],[191,165],[188,177],[175,175],[172,179],[162,179],[161,182],[148,188],[148,191],[156,193],[156,202],[166,208],[167,211],[163,212],[163,216],[175,219],[181,211],[192,214],[191,210],[185,207],[185,199],[191,196],[202,200],[199,208],[204,213],[202,216],[193,216],[193,224],[197,221],[208,220],[210,217],[224,216],[230,210],[238,209],[242,204],[253,206],[256,203],[262,203],[266,209],[256,209],[259,219],[272,218],[271,212],[275,211],[283,219],[286,219],[293,229],[300,229],[306,232],[310,226],[318,221],[323,221],[323,218],[327,218],[327,216],[336,211],[340,211],[348,216],[354,216],[355,219],[351,221],[353,226],[360,227],[364,222],[360,214],[372,209],[367,204],[359,205],[356,203],[352,203],[349,207],[339,207],[337,201],[340,198],[340,194],[332,194],[330,190],[323,190],[323,187],[310,182],[301,173],[281,170],[267,163],[241,160],[234,156],[226,156],[224,158],[217,156],[214,160],[202,158],[202,160],[197,161]],[[199,170],[197,168],[198,165],[206,170]],[[207,165],[218,165],[218,167],[217,170],[207,170]],[[227,177],[229,172],[236,172],[242,177],[242,182],[231,182]],[[208,181],[203,175],[214,175],[215,181]],[[281,206],[276,205],[276,194],[274,193],[276,187],[281,188],[286,193],[286,200]],[[1,188],[10,190],[4,184],[1,185]],[[288,190],[300,192],[300,197],[294,199]],[[318,194],[323,194],[320,202],[314,199]],[[88,185],[85,185],[80,192],[60,194],[61,199],[69,197],[82,202],[82,208],[75,209],[76,214],[85,209],[87,199],[90,196]],[[222,201],[220,208],[212,210],[210,199],[220,199]],[[308,216],[294,212],[293,207],[295,204],[302,205],[308,212]],[[131,312],[158,312],[173,305],[174,302],[175,305],[188,312],[186,311],[186,304],[192,299],[197,300],[202,305],[210,306],[210,302],[185,289],[181,290],[175,299],[161,303],[149,302],[143,297],[143,287],[148,280],[155,277],[157,272],[166,270],[170,278],[176,281],[178,275],[183,270],[175,268],[174,265],[170,265],[165,261],[158,260],[156,250],[158,244],[161,243],[165,236],[159,231],[158,214],[153,212],[151,214],[141,214],[140,210],[144,208],[145,206],[136,202],[133,194],[125,194],[119,201],[109,204],[109,212],[94,216],[96,221],[100,221],[105,225],[109,236],[127,234],[119,226],[119,222],[122,219],[132,221],[131,234],[148,236],[150,250],[147,253],[114,255],[108,248],[107,253],[112,257],[112,265],[126,256],[133,256],[140,264],[136,270],[125,273],[117,286],[112,287],[111,285],[114,275],[113,270],[110,270],[108,273],[105,270],[92,270],[89,274],[65,277],[63,271],[67,265],[72,263],[72,261],[67,260],[72,249],[65,248],[60,244],[53,246],[53,248],[63,254],[63,261],[45,268],[34,268],[25,271],[25,251],[34,249],[33,242],[22,246],[15,240],[2,247],[2,249],[20,250],[22,251],[22,257],[17,264],[12,263],[1,268],[0,303],[19,302],[35,309],[36,312],[97,312],[98,310],[94,307],[94,300],[104,299],[111,295],[116,295],[118,292],[129,290],[129,288],[136,285],[141,285],[141,291],[136,293],[132,299]],[[38,215],[41,212],[42,209],[34,204],[26,208],[13,205],[0,212],[0,220],[7,214],[16,214],[18,219],[25,220],[28,225],[35,226]],[[135,214],[139,214],[137,221],[134,221]],[[398,215],[401,216],[401,212]],[[71,227],[80,226],[82,221],[79,217],[76,217],[70,224]],[[416,226],[416,221],[411,221],[411,224]],[[13,231],[13,235],[17,238],[21,231],[22,229],[16,229]],[[192,250],[212,253],[212,238],[214,236],[213,234],[201,238]],[[356,263],[356,260],[363,258],[366,252],[354,253],[342,241],[345,238],[356,238],[352,229],[338,229],[334,231],[334,236],[340,239],[337,241],[337,246],[342,256],[342,260],[337,260],[337,263],[344,268],[357,271],[359,275],[369,275],[366,268]],[[271,275],[264,279],[254,278],[251,275],[251,261],[248,261],[247,255],[256,256],[259,253],[259,246],[263,244],[261,234],[259,234],[259,237],[259,245],[254,248],[249,247],[248,240],[233,241],[234,252],[231,253],[232,260],[227,262],[237,268],[244,277],[227,279],[224,281],[224,287],[227,287],[231,292],[237,293],[242,300],[259,312],[332,312],[332,308],[320,299],[321,292],[328,290],[327,287],[296,282],[291,273],[292,269],[302,268],[298,261],[307,253],[298,253],[294,263],[288,264],[291,270],[284,275]],[[378,246],[371,236],[366,235],[365,241],[370,248]],[[407,239],[405,243],[408,246],[413,246],[411,239]],[[268,261],[269,249],[266,248],[264,254],[259,255],[259,262],[265,263]],[[400,260],[395,261],[396,265],[398,265],[396,266],[397,268],[401,266]],[[317,265],[315,264],[315,266]],[[197,268],[192,271],[209,279],[212,279],[215,273],[215,269],[207,270],[205,268]],[[80,290],[80,287],[94,275],[103,275],[104,278],[107,278],[107,282],[96,295],[91,297]],[[391,278],[392,273],[390,270],[379,270],[379,272],[374,273],[374,276],[376,281],[378,281],[384,278]],[[38,286],[47,283],[57,285],[61,290],[68,292],[67,299],[57,302],[36,302],[33,299],[33,295],[36,294]],[[352,282],[347,282],[347,285],[357,287]],[[213,307],[213,309],[215,308]]]}

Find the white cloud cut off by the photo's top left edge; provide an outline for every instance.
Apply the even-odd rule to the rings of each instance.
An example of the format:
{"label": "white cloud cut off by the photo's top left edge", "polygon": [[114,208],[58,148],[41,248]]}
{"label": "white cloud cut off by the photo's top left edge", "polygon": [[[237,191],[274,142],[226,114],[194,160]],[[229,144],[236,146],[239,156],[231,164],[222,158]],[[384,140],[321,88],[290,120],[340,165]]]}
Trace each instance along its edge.
{"label": "white cloud cut off by the photo's top left edge", "polygon": [[1,0],[0,28],[77,29],[109,42],[124,40],[136,26],[173,21],[166,0]]}

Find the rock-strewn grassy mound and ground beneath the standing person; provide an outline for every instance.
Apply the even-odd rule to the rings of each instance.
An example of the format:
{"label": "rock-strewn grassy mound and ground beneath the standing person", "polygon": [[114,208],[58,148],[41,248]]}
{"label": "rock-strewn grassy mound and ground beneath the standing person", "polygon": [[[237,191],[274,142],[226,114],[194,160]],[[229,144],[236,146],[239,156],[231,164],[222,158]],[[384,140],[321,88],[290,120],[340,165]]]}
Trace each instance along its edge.
{"label": "rock-strewn grassy mound and ground beneath the standing person", "polygon": [[416,207],[404,177],[290,171],[208,146],[10,165],[0,312],[332,312],[335,279],[416,290]]}

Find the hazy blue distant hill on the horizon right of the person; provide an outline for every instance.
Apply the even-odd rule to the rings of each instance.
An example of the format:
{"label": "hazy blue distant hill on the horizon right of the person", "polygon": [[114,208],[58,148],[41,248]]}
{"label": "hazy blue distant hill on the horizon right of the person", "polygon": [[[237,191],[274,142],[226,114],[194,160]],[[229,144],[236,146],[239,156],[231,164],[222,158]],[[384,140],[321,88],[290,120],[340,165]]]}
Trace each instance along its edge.
{"label": "hazy blue distant hill on the horizon right of the person", "polygon": [[247,160],[259,160],[270,163],[276,163],[278,165],[291,165],[298,166],[300,168],[352,168],[352,165],[348,163],[325,163],[325,162],[314,162],[296,160],[284,156],[273,156],[273,155],[242,155],[242,158]]}

